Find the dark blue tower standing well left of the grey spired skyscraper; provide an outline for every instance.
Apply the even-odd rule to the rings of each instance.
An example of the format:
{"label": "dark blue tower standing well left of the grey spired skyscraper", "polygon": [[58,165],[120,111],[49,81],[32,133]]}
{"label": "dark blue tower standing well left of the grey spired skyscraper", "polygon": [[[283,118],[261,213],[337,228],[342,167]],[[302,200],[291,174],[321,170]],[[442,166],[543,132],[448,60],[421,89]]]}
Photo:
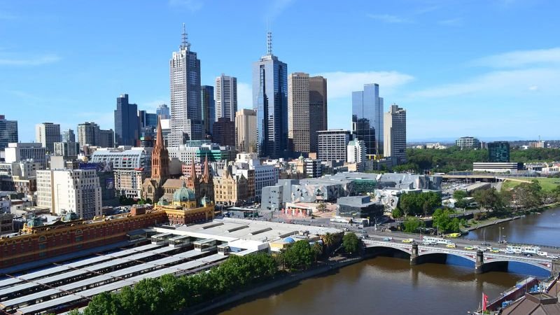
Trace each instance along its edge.
{"label": "dark blue tower standing well left of the grey spired skyscraper", "polygon": [[138,105],[128,102],[128,94],[117,97],[115,110],[116,146],[136,146],[139,139]]}

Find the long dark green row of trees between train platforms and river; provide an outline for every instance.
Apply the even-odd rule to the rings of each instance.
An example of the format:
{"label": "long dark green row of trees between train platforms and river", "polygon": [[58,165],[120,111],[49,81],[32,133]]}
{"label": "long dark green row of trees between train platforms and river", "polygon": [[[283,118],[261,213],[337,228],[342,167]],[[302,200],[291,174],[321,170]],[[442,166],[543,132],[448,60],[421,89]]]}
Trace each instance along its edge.
{"label": "long dark green row of trees between train platforms and river", "polygon": [[[134,287],[125,286],[120,293],[95,295],[83,314],[172,314],[179,309],[272,279],[277,271],[276,260],[271,255],[231,255],[209,272],[181,277],[167,274],[158,279],[144,279]],[[82,313],[73,310],[70,314]]]}

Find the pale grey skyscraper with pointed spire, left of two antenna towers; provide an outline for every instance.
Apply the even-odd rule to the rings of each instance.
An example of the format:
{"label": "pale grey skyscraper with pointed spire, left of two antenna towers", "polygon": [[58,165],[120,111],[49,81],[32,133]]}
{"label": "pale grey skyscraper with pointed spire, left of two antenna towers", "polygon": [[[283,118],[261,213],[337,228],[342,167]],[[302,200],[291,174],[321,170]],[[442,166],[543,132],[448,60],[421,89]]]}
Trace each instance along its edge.
{"label": "pale grey skyscraper with pointed spire, left of two antenna towers", "polygon": [[171,134],[169,145],[179,146],[183,141],[202,139],[200,113],[200,60],[190,51],[185,25],[179,51],[169,60],[171,86]]}

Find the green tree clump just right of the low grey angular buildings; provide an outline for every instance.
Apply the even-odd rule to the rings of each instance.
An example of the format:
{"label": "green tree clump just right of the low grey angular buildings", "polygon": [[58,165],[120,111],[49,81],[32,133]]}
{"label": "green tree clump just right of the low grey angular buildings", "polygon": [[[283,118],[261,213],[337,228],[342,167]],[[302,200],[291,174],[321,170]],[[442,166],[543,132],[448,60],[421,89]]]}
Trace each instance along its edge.
{"label": "green tree clump just right of the low grey angular buildings", "polygon": [[442,197],[435,192],[407,193],[402,194],[398,200],[398,206],[393,210],[393,218],[402,216],[428,216],[433,214],[434,209],[441,207]]}

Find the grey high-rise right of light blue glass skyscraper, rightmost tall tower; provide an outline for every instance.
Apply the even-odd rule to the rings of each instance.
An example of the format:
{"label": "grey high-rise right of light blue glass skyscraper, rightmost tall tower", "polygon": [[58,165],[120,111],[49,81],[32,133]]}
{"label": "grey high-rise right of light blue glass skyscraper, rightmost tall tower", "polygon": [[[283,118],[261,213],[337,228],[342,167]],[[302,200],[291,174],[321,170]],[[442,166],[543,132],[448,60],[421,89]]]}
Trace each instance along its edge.
{"label": "grey high-rise right of light blue glass skyscraper, rightmost tall tower", "polygon": [[391,105],[384,117],[384,154],[393,165],[407,162],[407,111]]}

